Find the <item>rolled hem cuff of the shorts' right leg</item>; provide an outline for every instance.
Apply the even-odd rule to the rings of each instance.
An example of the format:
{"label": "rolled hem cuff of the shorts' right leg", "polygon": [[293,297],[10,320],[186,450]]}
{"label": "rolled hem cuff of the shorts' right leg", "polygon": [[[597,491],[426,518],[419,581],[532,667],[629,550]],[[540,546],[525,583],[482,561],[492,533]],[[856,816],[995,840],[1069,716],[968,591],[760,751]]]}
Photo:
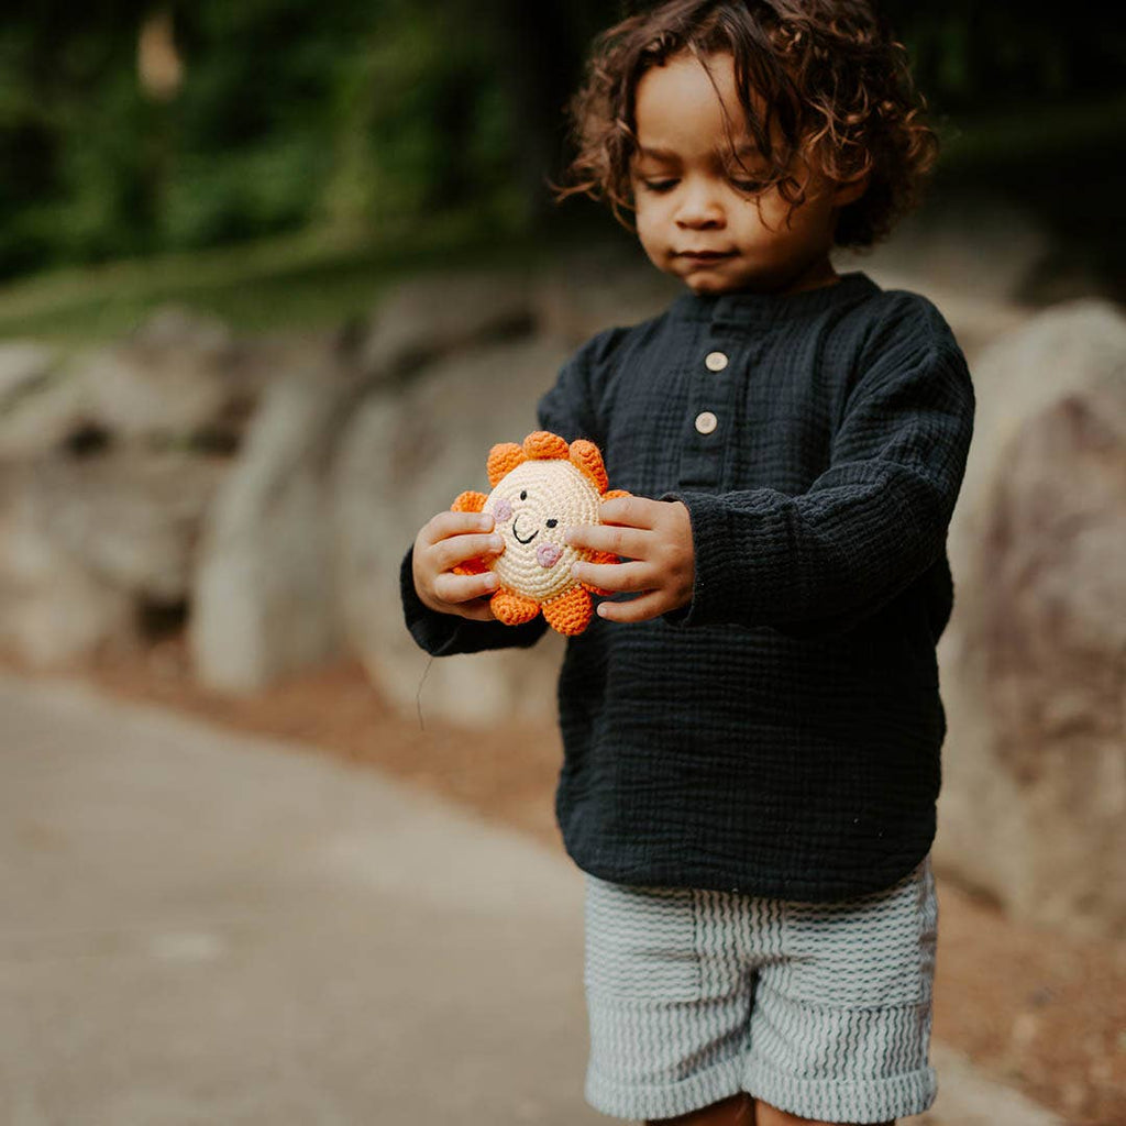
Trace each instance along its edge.
{"label": "rolled hem cuff of the shorts' right leg", "polygon": [[930,1066],[873,1079],[799,1079],[753,1055],[740,1085],[779,1110],[828,1123],[886,1123],[919,1115],[938,1093]]}

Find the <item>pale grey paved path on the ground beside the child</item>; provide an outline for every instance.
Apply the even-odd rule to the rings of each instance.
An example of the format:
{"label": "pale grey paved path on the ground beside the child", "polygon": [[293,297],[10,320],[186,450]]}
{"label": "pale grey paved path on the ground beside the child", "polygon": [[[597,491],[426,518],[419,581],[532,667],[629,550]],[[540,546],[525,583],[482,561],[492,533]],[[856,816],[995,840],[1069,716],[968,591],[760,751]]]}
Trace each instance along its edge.
{"label": "pale grey paved path on the ground beside the child", "polygon": [[[564,858],[73,685],[0,678],[0,740],[3,1126],[614,1120]],[[937,1060],[919,1126],[1056,1121]]]}

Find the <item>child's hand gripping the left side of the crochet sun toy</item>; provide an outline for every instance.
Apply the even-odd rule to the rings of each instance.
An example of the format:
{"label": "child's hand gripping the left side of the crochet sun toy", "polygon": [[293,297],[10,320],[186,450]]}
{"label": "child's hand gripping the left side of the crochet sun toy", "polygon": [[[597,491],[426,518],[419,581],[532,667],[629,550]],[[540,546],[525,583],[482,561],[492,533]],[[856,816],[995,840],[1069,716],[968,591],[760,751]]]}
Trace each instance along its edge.
{"label": "child's hand gripping the left side of the crochet sun toy", "polygon": [[456,614],[476,622],[493,620],[489,599],[497,575],[453,574],[458,563],[480,555],[499,555],[500,536],[489,535],[493,519],[486,512],[439,512],[414,539],[414,589],[425,606],[439,614]]}

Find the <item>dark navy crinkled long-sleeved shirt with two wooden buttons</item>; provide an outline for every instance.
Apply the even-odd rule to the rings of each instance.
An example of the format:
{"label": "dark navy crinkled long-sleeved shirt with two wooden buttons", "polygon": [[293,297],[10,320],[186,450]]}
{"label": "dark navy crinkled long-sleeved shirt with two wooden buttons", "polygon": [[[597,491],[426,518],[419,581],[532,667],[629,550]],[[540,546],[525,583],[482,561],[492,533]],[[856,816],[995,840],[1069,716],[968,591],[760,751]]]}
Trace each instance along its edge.
{"label": "dark navy crinkled long-sleeved shirt with two wooden buttons", "polygon": [[[863,272],[685,294],[584,345],[538,414],[593,440],[611,488],[683,501],[696,555],[688,606],[568,641],[556,812],[575,863],[806,901],[910,872],[935,834],[935,646],[974,414],[935,306]],[[402,597],[437,655],[545,628],[428,610],[410,553]]]}

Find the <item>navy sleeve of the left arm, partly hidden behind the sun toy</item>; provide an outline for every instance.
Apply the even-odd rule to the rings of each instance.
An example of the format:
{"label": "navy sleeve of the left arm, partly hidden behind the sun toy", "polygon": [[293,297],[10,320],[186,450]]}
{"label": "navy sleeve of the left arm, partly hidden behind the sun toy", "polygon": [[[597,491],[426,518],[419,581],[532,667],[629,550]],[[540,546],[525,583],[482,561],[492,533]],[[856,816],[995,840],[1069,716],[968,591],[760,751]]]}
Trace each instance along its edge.
{"label": "navy sleeve of the left arm, partly hidden behind the sun toy", "polygon": [[[598,441],[598,423],[590,396],[592,363],[619,330],[599,333],[579,349],[560,369],[554,385],[539,400],[540,429],[551,430],[568,441],[590,438]],[[513,435],[518,441],[524,435]],[[484,453],[488,453],[485,450]],[[423,605],[414,589],[413,548],[408,549],[400,568],[400,596],[406,628],[417,644],[432,656],[477,653],[483,650],[534,645],[547,628],[543,616],[520,626],[500,622],[476,622],[454,614],[438,614]]]}

